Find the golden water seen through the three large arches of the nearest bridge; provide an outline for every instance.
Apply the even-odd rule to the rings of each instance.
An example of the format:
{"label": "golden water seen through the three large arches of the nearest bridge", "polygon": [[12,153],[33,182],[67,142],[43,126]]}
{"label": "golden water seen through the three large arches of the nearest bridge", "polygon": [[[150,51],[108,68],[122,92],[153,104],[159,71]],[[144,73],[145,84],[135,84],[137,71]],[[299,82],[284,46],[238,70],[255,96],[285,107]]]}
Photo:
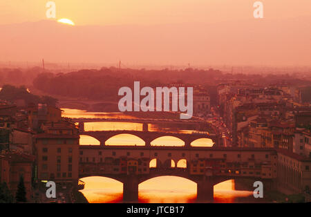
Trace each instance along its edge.
{"label": "golden water seen through the three large arches of the nearest bridge", "polygon": [[[111,178],[82,178],[81,190],[88,202],[122,202],[123,185]],[[235,191],[234,180],[214,186],[214,202],[236,202],[236,198],[252,195],[252,191]],[[196,202],[196,183],[176,176],[160,176],[140,183],[139,202]]]}

